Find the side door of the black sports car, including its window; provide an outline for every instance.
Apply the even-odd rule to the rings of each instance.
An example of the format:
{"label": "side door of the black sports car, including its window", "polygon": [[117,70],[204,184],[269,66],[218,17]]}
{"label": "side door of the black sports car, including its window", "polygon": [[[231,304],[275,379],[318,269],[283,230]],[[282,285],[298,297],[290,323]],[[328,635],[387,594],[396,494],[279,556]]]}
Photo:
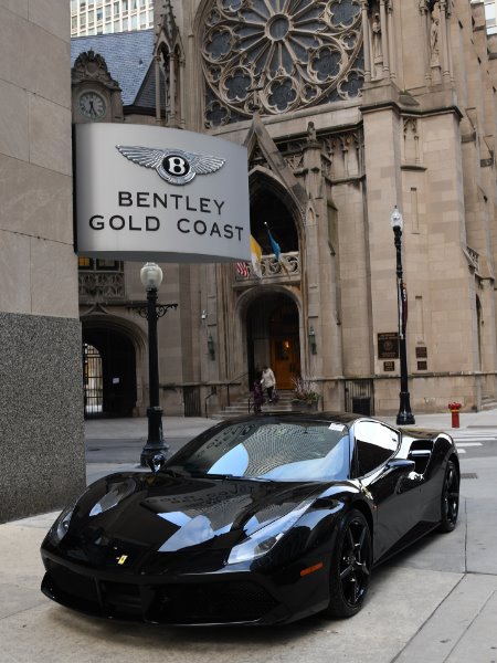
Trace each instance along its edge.
{"label": "side door of the black sports car, including its window", "polygon": [[399,461],[399,432],[381,422],[361,420],[353,427],[355,467],[376,505],[374,559],[385,555],[419,522],[419,484],[414,464]]}

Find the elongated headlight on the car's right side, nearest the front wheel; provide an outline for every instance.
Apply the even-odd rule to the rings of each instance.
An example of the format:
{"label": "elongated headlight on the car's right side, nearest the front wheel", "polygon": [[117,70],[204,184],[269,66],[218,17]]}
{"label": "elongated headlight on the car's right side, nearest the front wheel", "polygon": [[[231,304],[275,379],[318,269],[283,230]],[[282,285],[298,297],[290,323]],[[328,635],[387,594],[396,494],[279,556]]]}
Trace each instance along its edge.
{"label": "elongated headlight on the car's right side, nearest the front wheel", "polygon": [[251,561],[266,555],[266,552],[272,550],[278,540],[285,536],[288,529],[295,525],[313,502],[314,497],[306,499],[289,514],[261,527],[261,529],[254,532],[254,534],[244,541],[234,546],[228,558],[228,564]]}

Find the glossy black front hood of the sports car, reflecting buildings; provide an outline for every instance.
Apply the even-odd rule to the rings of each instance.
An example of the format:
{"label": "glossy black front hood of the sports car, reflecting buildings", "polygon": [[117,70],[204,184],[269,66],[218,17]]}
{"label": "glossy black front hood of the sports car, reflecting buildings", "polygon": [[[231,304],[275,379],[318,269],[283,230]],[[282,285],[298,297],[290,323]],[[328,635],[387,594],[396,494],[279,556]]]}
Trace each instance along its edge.
{"label": "glossy black front hood of the sports car, reflecting buildings", "polygon": [[[93,484],[78,501],[59,548],[91,564],[102,564],[109,554],[119,561],[142,558],[146,552],[202,552],[205,560],[205,551],[232,548],[328,485],[160,473],[110,475]],[[119,486],[125,486],[125,496],[115,503],[108,496],[118,493]]]}

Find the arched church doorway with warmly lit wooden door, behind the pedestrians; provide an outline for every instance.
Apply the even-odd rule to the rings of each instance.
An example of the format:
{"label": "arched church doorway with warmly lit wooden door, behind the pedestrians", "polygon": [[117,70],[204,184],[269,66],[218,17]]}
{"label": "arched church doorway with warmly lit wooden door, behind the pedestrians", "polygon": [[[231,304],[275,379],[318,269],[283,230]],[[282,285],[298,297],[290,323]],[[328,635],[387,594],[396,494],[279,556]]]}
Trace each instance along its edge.
{"label": "arched church doorway with warmly lit wooden door, behind the pedestrians", "polygon": [[246,312],[248,378],[252,385],[264,366],[271,366],[278,389],[293,389],[300,373],[298,308],[284,293],[256,297]]}

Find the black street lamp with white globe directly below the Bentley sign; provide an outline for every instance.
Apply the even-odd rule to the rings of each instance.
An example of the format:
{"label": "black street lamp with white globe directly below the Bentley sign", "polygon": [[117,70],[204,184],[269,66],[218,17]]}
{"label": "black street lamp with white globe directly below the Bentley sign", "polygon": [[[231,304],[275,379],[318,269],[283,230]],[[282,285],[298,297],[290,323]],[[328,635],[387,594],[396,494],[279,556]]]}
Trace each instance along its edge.
{"label": "black street lamp with white globe directly below the Bentley sign", "polygon": [[166,315],[168,308],[176,308],[178,304],[157,304],[157,291],[162,283],[162,270],[156,263],[146,263],[140,270],[140,280],[147,291],[147,308],[139,308],[138,313],[148,320],[148,382],[149,408],[148,440],[140,455],[140,465],[146,467],[155,456],[162,455],[169,446],[163,441],[162,408],[159,406],[159,354],[157,345],[157,320]]}

